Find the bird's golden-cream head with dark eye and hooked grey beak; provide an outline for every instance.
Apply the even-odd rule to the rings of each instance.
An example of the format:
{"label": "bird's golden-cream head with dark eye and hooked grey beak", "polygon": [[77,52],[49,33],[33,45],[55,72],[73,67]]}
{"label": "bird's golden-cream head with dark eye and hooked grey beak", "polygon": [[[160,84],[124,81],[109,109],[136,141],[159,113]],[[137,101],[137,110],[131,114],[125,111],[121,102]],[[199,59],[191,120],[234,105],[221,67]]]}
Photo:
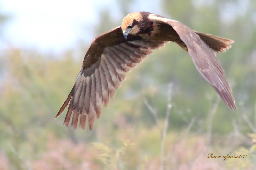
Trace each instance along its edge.
{"label": "bird's golden-cream head with dark eye and hooked grey beak", "polygon": [[143,21],[143,16],[140,12],[134,12],[124,17],[122,22],[122,31],[124,38],[128,35],[137,35],[140,32],[140,23]]}

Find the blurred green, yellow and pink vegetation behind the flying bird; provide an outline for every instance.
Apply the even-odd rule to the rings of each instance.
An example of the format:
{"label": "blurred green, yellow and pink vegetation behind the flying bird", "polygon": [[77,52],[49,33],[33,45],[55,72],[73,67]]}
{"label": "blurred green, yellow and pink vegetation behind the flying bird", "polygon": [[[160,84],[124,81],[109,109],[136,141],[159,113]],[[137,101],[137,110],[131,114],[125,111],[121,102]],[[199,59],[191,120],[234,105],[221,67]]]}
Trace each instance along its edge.
{"label": "blurred green, yellow and pink vegetation behind the flying bird", "polygon": [[[136,1],[106,8],[95,36],[112,29]],[[230,111],[189,55],[169,43],[127,74],[94,128],[74,130],[54,119],[84,55],[60,56],[10,47],[0,58],[0,169],[254,169],[256,134],[256,1],[161,1],[167,18],[229,38],[217,57],[238,107]],[[1,13],[1,12],[0,12]],[[8,19],[0,15],[2,27]],[[1,29],[0,29],[1,30]],[[90,43],[81,42],[85,54]],[[246,158],[206,158],[214,155]]]}

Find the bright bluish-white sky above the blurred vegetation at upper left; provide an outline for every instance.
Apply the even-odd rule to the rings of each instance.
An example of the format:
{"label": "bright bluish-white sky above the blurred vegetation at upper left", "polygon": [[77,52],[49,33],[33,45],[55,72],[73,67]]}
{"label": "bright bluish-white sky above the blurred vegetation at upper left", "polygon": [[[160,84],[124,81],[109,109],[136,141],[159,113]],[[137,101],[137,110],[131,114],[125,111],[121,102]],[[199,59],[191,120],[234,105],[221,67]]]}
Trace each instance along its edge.
{"label": "bright bluish-white sky above the blurred vegetation at upper left", "polygon": [[[147,6],[140,0],[134,10],[158,12],[154,0]],[[143,3],[143,5],[141,4]],[[76,48],[79,40],[92,41],[99,11],[111,7],[113,18],[120,13],[115,0],[0,0],[0,10],[12,19],[4,27],[2,48],[8,46],[36,48],[40,51],[61,52]],[[158,12],[159,13],[159,12]],[[121,25],[121,23],[120,23]]]}

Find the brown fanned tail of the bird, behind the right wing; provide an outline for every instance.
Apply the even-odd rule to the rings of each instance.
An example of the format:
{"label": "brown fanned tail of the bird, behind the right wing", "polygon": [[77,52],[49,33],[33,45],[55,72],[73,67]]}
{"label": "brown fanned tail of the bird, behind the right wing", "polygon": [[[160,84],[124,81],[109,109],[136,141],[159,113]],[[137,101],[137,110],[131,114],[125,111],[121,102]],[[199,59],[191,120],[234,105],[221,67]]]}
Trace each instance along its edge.
{"label": "brown fanned tail of the bird, behind the right wing", "polygon": [[194,31],[196,34],[200,36],[200,38],[213,50],[216,52],[224,52],[228,50],[234,41],[221,38],[217,36],[213,36],[211,34],[206,33],[200,33],[197,31]]}

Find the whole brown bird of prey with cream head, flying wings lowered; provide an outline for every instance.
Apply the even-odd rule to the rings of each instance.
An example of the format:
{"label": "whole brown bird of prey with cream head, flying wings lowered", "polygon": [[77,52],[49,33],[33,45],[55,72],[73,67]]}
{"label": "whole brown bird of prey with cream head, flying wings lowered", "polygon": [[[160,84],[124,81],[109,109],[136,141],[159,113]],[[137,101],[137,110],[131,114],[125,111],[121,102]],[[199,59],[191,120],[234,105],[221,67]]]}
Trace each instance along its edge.
{"label": "whole brown bird of prey with cream head, flying wings lowered", "polygon": [[184,24],[149,12],[127,15],[121,26],[101,34],[88,49],[81,70],[68,98],[56,115],[68,106],[64,124],[78,124],[85,129],[86,119],[92,129],[95,116],[100,117],[101,105],[108,105],[115,89],[130,71],[152,49],[172,41],[186,50],[199,73],[206,79],[230,109],[236,109],[231,88],[213,51],[229,49],[232,40],[193,31]]}

